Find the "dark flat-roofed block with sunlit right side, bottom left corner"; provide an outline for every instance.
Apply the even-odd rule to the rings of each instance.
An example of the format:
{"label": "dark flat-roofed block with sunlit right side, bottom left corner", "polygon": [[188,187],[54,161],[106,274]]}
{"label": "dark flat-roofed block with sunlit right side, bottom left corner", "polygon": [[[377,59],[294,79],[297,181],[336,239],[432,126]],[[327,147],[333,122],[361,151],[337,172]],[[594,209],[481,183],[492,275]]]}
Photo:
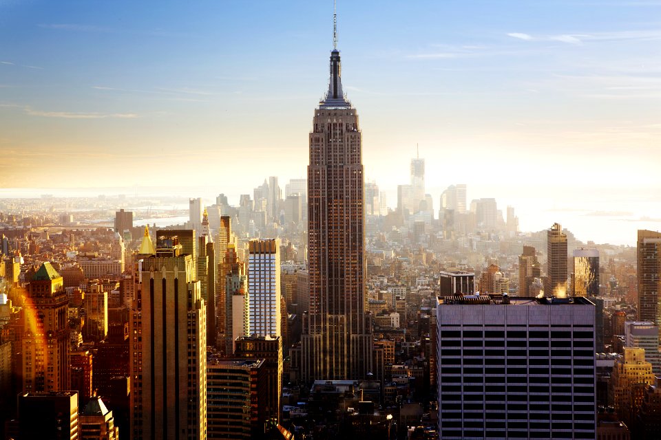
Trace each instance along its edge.
{"label": "dark flat-roofed block with sunlit right side, bottom left corner", "polygon": [[51,391],[21,393],[18,439],[78,440],[78,393]]}

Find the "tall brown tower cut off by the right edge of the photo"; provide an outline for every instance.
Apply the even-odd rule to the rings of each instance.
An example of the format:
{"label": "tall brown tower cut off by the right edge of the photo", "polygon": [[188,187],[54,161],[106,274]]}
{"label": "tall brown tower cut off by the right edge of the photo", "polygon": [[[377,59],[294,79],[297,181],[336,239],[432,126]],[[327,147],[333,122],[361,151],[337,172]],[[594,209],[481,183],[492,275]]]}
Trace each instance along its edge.
{"label": "tall brown tower cut off by the right edge of the photo", "polygon": [[638,230],[638,320],[661,324],[661,232]]}

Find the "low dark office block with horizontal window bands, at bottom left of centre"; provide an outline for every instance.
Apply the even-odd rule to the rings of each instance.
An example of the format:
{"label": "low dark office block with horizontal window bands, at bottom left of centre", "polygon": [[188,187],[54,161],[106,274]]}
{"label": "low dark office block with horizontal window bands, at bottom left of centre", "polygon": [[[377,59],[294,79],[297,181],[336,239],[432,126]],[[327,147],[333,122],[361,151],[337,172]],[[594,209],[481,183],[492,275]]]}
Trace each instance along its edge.
{"label": "low dark office block with horizontal window bands, at bottom left of centre", "polygon": [[267,382],[263,359],[207,360],[207,439],[256,439],[264,434]]}

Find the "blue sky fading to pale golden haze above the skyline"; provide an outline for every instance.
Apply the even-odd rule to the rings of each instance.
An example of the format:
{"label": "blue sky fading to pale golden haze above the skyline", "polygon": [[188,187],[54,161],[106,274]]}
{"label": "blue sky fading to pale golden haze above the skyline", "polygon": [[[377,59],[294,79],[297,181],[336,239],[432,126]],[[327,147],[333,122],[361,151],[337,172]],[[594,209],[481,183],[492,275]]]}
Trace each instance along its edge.
{"label": "blue sky fading to pale golden haze above the skyline", "polygon": [[[171,167],[238,194],[303,177],[332,8],[0,0],[0,185],[165,185]],[[430,188],[661,188],[661,1],[340,0],[338,13],[366,175],[386,190],[406,183],[416,144]]]}

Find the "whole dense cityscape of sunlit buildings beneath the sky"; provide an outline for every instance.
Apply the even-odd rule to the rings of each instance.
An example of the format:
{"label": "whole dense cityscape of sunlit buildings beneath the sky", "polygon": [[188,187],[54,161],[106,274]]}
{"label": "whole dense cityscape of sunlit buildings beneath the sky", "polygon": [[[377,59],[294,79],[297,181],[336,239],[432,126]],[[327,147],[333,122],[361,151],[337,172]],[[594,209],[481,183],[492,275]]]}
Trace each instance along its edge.
{"label": "whole dense cityscape of sunlit buildings beneath the sky", "polygon": [[3,439],[658,439],[661,232],[368,179],[337,18],[299,178],[0,199]]}

